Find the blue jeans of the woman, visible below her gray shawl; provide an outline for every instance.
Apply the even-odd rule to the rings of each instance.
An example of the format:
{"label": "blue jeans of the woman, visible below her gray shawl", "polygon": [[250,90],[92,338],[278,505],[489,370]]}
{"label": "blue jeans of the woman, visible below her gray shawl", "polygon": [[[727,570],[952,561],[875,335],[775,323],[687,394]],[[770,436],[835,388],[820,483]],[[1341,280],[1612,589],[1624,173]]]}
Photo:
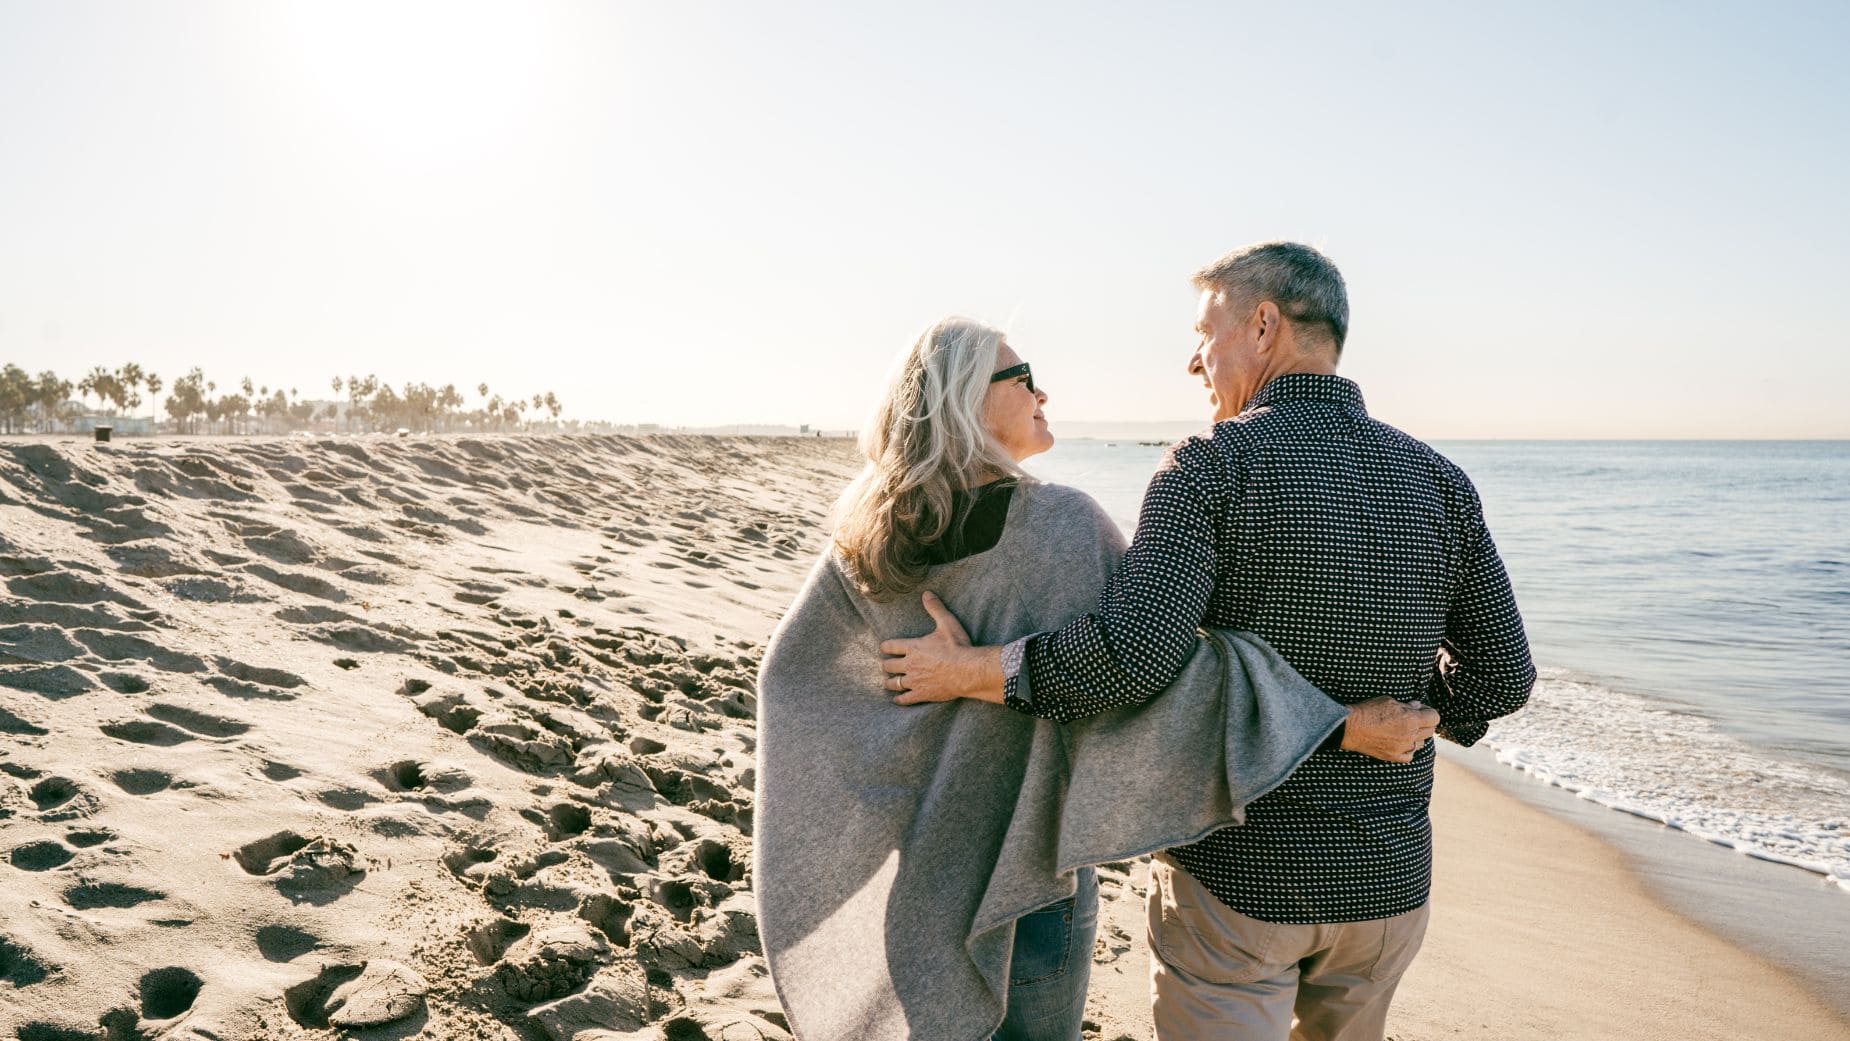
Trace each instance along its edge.
{"label": "blue jeans of the woman, visible below her gray shawl", "polygon": [[1099,875],[1079,871],[1079,891],[1016,921],[1008,1013],[993,1041],[1079,1041],[1099,936]]}

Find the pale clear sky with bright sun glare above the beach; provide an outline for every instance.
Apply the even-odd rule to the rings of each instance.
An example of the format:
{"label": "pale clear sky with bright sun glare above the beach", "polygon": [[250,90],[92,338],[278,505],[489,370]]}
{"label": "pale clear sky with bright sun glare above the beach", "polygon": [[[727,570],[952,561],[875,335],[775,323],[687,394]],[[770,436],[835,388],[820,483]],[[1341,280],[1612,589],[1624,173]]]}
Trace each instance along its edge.
{"label": "pale clear sky with bright sun glare above the beach", "polygon": [[858,427],[968,312],[1056,433],[1206,420],[1188,274],[1284,237],[1419,436],[1850,436],[1846,48],[1841,2],[0,0],[0,361]]}

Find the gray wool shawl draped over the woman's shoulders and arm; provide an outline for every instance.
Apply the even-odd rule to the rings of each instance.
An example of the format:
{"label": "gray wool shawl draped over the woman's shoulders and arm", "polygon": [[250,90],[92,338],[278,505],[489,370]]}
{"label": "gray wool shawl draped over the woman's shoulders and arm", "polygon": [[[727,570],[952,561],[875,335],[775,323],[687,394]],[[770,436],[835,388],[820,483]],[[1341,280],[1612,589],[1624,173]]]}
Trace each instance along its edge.
{"label": "gray wool shawl draped over the woman's shoulders and arm", "polygon": [[[1123,534],[1084,492],[1023,483],[1001,542],[932,568],[977,643],[1093,608]],[[881,640],[932,629],[916,595],[810,571],[758,675],[758,934],[803,1041],[982,1041],[1016,919],[1075,871],[1241,821],[1347,710],[1247,632],[1206,631],[1140,706],[1051,723],[999,704],[895,706]]]}

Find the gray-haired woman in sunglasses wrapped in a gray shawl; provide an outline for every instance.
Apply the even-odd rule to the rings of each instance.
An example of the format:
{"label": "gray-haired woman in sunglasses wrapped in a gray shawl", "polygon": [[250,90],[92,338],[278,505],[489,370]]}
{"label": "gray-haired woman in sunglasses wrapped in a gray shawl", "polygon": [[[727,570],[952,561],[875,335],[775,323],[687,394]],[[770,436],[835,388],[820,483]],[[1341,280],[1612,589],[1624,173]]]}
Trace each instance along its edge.
{"label": "gray-haired woman in sunglasses wrapped in a gray shawl", "polygon": [[[1088,610],[1123,555],[1092,497],[1019,470],[1053,446],[1045,401],[1001,331],[927,329],[862,438],[831,551],[771,638],[753,876],[803,1041],[1075,1041],[1090,865],[1236,821],[1345,717],[1269,647],[1225,640],[1149,706],[1084,723],[890,704],[879,645],[934,627],[921,592],[953,601],[979,642],[1003,640]],[[1180,799],[1125,777],[1171,754]]]}

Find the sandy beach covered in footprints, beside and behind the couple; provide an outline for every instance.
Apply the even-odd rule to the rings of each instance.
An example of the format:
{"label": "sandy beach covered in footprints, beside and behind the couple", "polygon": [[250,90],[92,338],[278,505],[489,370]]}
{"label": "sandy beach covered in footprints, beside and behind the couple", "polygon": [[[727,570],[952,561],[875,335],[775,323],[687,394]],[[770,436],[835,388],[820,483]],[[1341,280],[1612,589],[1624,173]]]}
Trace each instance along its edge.
{"label": "sandy beach covered in footprints, beside and behind the couple", "polygon": [[[0,1035],[775,1041],[753,677],[840,440],[0,444]],[[1441,764],[1447,1037],[1850,1037]],[[1092,1026],[1141,1039],[1143,865]]]}

